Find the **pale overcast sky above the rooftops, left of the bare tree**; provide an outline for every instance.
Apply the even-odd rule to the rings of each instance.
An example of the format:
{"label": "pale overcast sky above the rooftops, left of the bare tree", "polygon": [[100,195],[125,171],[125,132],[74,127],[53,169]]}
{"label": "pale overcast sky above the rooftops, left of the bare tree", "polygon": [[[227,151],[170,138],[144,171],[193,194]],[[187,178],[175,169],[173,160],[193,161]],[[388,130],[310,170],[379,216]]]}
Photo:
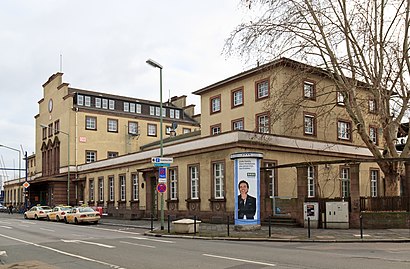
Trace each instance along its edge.
{"label": "pale overcast sky above the rooftops, left of the bare tree", "polygon": [[[159,101],[152,58],[164,100],[187,95],[200,113],[193,91],[252,67],[222,54],[245,18],[239,0],[1,0],[0,145],[34,152],[42,85],[60,55],[71,87]],[[16,151],[0,147],[0,157],[18,168]]]}

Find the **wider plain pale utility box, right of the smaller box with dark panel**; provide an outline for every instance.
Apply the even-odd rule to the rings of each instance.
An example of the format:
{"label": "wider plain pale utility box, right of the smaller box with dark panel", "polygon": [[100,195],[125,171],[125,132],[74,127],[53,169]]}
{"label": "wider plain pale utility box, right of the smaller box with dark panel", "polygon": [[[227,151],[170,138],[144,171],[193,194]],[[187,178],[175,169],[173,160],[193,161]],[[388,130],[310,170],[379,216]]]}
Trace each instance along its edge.
{"label": "wider plain pale utility box, right of the smaller box with dark panel", "polygon": [[326,228],[349,229],[348,202],[326,202]]}

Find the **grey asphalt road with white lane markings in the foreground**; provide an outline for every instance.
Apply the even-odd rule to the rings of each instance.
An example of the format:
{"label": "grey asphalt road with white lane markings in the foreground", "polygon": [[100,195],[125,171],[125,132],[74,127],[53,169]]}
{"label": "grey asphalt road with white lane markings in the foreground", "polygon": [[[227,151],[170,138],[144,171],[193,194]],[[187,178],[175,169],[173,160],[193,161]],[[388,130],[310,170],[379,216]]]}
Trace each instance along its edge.
{"label": "grey asphalt road with white lane markings in the foreground", "polygon": [[7,252],[6,264],[36,260],[62,269],[410,268],[409,243],[214,241],[148,237],[144,232],[0,213],[0,251]]}

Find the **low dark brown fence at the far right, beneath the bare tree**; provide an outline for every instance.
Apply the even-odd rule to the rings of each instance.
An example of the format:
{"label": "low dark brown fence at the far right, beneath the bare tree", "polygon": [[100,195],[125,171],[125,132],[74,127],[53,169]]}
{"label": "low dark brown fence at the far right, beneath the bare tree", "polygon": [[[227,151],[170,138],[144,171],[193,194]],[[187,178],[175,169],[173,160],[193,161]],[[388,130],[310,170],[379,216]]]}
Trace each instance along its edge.
{"label": "low dark brown fence at the far right, beneath the bare tree", "polygon": [[360,197],[361,211],[410,211],[410,197]]}

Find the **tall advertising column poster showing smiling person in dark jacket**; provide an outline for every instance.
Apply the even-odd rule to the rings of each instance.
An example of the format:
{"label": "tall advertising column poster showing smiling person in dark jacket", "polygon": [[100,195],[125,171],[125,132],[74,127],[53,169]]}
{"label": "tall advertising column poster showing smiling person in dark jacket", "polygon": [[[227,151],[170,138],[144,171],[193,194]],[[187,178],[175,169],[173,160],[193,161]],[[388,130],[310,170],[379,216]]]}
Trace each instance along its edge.
{"label": "tall advertising column poster showing smiling person in dark jacket", "polygon": [[235,225],[260,224],[258,158],[234,160]]}

